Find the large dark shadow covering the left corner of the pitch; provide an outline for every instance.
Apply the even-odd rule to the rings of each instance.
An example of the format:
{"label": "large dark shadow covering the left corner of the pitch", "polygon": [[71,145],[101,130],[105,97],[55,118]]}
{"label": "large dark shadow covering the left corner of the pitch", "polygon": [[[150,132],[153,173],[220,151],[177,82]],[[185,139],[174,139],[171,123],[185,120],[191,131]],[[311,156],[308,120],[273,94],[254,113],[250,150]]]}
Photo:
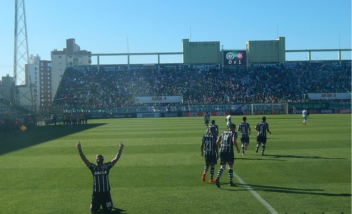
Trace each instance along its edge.
{"label": "large dark shadow covering the left corner of the pitch", "polygon": [[0,155],[19,149],[38,145],[50,140],[72,135],[83,130],[105,125],[106,123],[82,124],[76,126],[48,125],[37,126],[32,130],[20,132],[19,138],[14,138],[15,132],[5,133],[0,136]]}

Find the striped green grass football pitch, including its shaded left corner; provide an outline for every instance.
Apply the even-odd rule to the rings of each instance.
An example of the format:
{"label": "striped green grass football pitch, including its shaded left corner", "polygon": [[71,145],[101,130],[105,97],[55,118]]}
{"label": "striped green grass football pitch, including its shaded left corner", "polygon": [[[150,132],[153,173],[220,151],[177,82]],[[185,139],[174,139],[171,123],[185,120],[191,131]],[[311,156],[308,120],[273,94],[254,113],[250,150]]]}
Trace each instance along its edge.
{"label": "striped green grass football pitch, including its shaded left corner", "polygon": [[[110,171],[113,213],[351,213],[351,115],[268,115],[265,156],[255,152],[255,125],[245,153],[235,154],[236,187],[201,177],[202,117],[97,119],[77,127],[40,126],[0,137],[0,213],[90,213],[91,162],[124,149]],[[225,117],[216,120],[225,130]],[[242,116],[233,116],[237,125]],[[239,141],[239,139],[238,139]],[[215,166],[215,173],[219,165]],[[241,181],[240,181],[241,180]]]}

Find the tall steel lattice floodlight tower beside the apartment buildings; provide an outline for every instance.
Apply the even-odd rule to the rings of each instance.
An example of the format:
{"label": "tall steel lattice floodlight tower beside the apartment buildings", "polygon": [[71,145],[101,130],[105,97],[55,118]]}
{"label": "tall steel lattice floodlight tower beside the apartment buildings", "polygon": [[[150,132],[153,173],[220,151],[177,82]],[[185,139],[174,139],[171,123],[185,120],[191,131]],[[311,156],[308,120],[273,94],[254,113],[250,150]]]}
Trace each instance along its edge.
{"label": "tall steel lattice floodlight tower beside the apartment buildings", "polygon": [[[15,34],[14,34],[14,58],[13,58],[13,96],[12,102],[19,104],[21,98],[30,100],[33,105],[33,92],[31,87],[31,77],[26,74],[25,65],[29,64],[28,36],[26,9],[24,8],[24,0],[15,0]],[[20,94],[16,86],[27,86],[30,93],[24,92]]]}

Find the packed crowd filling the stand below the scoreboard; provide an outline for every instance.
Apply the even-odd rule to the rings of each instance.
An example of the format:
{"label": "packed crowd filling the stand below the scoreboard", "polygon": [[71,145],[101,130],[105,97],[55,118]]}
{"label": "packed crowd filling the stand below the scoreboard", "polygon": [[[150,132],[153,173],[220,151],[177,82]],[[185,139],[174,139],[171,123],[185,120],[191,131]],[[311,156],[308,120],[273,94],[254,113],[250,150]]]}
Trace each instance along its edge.
{"label": "packed crowd filling the stand below the scoreboard", "polygon": [[110,108],[140,105],[136,96],[182,95],[186,104],[299,102],[303,93],[347,92],[351,67],[309,64],[211,69],[67,68],[54,105]]}

